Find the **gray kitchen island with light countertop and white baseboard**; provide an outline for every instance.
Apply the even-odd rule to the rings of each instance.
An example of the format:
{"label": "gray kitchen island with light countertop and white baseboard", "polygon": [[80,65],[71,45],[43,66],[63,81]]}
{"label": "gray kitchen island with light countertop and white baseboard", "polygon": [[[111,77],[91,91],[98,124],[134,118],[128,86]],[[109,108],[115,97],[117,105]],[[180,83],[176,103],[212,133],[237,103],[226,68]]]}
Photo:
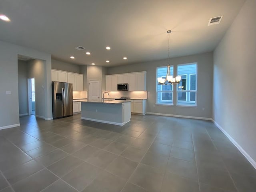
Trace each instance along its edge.
{"label": "gray kitchen island with light countertop and white baseboard", "polygon": [[81,102],[81,119],[123,126],[131,119],[128,100],[76,100]]}

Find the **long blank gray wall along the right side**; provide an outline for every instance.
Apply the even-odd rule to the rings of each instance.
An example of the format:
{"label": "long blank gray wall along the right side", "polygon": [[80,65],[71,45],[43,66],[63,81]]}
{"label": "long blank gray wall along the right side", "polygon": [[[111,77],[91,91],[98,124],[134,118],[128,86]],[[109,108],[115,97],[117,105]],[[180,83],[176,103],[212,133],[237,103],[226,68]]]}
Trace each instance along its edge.
{"label": "long blank gray wall along the right side", "polygon": [[214,51],[213,119],[256,161],[256,1],[247,0]]}

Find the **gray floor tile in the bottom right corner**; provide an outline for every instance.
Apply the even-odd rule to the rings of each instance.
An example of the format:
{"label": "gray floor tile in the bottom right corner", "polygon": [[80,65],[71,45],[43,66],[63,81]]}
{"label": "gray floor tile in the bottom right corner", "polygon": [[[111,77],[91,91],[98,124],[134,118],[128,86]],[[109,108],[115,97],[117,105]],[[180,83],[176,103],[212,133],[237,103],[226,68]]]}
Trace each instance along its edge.
{"label": "gray floor tile in the bottom right corner", "polygon": [[231,174],[239,192],[256,191],[256,177]]}

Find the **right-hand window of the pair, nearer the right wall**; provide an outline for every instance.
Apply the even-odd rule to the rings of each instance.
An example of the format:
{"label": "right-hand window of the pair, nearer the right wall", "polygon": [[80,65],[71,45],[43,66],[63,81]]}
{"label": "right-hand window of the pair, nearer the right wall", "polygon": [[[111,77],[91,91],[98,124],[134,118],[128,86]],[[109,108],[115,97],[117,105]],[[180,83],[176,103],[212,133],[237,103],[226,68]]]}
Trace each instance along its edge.
{"label": "right-hand window of the pair, nearer the right wall", "polygon": [[177,67],[177,75],[181,81],[177,85],[177,104],[196,106],[196,82],[197,64],[182,64]]}

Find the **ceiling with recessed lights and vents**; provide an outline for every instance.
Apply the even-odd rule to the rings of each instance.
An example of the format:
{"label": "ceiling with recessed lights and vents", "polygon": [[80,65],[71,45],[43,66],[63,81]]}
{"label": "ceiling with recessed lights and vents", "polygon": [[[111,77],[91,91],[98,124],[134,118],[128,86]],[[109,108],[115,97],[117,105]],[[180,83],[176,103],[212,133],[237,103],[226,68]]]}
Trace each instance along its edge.
{"label": "ceiling with recessed lights and vents", "polygon": [[[170,29],[170,56],[185,56],[214,50],[244,2],[0,0],[0,14],[11,20],[0,20],[0,40],[66,62],[117,66],[168,58]],[[210,18],[221,15],[220,24],[208,26]],[[85,50],[75,50],[77,46]]]}

